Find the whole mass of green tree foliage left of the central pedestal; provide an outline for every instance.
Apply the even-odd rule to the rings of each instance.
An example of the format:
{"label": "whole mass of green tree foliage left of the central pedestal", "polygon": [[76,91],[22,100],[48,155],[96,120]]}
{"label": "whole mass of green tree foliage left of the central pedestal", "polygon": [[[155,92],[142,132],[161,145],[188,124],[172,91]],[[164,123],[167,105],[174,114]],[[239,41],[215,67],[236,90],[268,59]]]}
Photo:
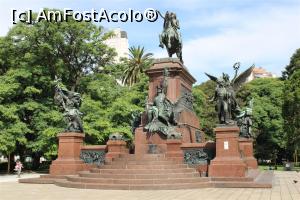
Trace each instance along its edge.
{"label": "whole mass of green tree foliage left of the central pedestal", "polygon": [[113,63],[115,50],[104,43],[110,35],[93,23],[69,20],[18,23],[0,38],[2,153],[57,154],[56,135],[65,124],[53,102],[55,76],[83,95],[87,142],[103,143],[115,131],[132,137],[130,112],[140,109],[147,79],[141,76],[144,81],[131,89],[117,83],[123,68]]}

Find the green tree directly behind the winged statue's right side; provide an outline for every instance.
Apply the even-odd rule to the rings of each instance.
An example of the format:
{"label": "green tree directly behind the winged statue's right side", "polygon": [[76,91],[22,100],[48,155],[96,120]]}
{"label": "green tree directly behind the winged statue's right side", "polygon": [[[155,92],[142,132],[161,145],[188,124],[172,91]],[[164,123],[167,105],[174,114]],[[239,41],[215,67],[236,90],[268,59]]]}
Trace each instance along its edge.
{"label": "green tree directly behind the winged statue's right side", "polygon": [[241,106],[254,98],[253,133],[257,158],[274,159],[277,152],[279,157],[285,157],[287,139],[283,130],[282,89],[283,81],[260,78],[245,84],[237,93],[243,102]]}

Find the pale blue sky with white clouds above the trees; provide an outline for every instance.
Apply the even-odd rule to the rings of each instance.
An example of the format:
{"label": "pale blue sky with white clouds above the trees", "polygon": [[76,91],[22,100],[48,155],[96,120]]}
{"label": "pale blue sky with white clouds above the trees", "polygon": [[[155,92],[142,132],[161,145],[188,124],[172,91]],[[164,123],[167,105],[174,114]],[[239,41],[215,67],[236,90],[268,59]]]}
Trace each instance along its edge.
{"label": "pale blue sky with white clouds above the trees", "polygon": [[[177,13],[183,37],[183,60],[198,82],[204,72],[232,74],[233,63],[241,71],[255,63],[281,75],[291,55],[300,48],[300,0],[0,0],[0,36],[12,26],[12,9],[71,8],[83,11],[144,11],[154,8]],[[155,57],[166,57],[158,47],[163,21],[154,23],[98,23],[126,30],[129,45],[145,46]]]}

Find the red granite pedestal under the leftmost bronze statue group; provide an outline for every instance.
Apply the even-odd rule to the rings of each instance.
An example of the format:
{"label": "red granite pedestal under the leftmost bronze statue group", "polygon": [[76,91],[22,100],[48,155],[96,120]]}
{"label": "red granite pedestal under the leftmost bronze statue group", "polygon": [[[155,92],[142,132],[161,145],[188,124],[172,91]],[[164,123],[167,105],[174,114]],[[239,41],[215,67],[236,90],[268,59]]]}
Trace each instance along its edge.
{"label": "red granite pedestal under the leftmost bronze statue group", "polygon": [[83,171],[87,165],[80,159],[83,133],[58,134],[58,158],[50,166],[51,175],[71,175]]}

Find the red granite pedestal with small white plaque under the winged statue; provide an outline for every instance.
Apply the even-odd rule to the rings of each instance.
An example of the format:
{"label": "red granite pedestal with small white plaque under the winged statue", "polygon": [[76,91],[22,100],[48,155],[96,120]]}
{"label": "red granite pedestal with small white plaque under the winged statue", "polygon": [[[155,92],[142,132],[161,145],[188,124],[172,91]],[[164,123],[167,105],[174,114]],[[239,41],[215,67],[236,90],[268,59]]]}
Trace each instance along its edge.
{"label": "red granite pedestal with small white plaque under the winged statue", "polygon": [[210,162],[211,177],[245,177],[247,166],[240,155],[239,128],[222,126],[214,129],[216,157]]}

